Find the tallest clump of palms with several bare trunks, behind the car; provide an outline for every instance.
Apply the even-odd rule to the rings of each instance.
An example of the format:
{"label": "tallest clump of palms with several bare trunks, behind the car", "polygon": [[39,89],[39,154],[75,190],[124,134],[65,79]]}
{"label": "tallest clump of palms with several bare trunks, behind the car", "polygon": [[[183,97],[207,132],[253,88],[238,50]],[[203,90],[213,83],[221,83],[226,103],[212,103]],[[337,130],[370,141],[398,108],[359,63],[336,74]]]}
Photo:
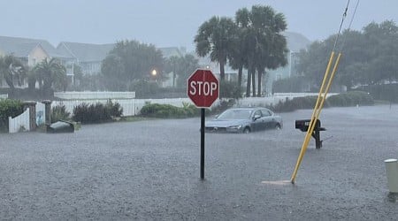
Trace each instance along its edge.
{"label": "tallest clump of palms with several bare trunks, behind the car", "polygon": [[[246,66],[248,68],[248,84],[246,94],[249,95],[250,83],[253,96],[261,95],[261,81],[265,69],[275,69],[287,64],[287,42],[280,34],[287,28],[285,17],[275,13],[270,6],[254,5],[249,11],[243,8],[236,12],[235,20],[245,34],[241,34],[245,42]],[[257,72],[258,90],[256,94]]]}

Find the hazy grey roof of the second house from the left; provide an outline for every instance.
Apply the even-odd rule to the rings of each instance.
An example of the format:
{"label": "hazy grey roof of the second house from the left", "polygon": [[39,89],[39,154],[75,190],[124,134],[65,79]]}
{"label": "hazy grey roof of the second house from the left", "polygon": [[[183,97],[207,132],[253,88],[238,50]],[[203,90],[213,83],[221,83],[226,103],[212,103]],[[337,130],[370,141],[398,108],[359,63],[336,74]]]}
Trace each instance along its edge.
{"label": "hazy grey roof of the second house from the left", "polygon": [[77,42],[60,42],[57,46],[59,53],[75,57],[79,62],[103,61],[115,44],[92,44]]}

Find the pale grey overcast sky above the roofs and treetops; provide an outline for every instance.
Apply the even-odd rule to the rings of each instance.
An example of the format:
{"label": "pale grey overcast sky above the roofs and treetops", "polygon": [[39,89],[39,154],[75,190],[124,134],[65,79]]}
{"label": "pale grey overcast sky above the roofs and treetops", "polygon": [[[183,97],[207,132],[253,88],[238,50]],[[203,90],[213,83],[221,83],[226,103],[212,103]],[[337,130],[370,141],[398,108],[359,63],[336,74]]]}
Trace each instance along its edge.
{"label": "pale grey overcast sky above the roofs and treetops", "polygon": [[[357,0],[350,1],[348,27]],[[0,35],[59,42],[138,40],[194,50],[197,28],[212,16],[233,18],[254,4],[285,14],[287,31],[311,41],[336,34],[347,0],[0,0]],[[352,29],[371,21],[398,21],[397,0],[360,0]]]}

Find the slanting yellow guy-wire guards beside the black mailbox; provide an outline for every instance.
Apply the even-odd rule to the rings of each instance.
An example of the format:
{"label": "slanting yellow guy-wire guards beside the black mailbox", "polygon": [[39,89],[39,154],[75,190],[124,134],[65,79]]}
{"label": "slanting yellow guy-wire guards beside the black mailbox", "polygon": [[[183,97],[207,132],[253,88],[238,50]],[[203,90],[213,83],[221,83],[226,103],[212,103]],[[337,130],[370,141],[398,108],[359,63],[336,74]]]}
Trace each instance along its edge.
{"label": "slanting yellow guy-wire guards beside the black mailbox", "polygon": [[[313,112],[312,112],[312,116],[311,116],[311,119],[310,119],[310,126],[309,126],[309,128],[308,128],[308,130],[307,130],[307,133],[306,133],[306,135],[305,135],[304,141],[303,141],[303,143],[302,143],[302,149],[301,149],[300,155],[299,155],[299,157],[298,157],[298,159],[297,159],[297,163],[295,164],[295,171],[293,171],[292,178],[290,179],[290,181],[291,181],[292,183],[295,183],[295,177],[296,177],[296,175],[297,175],[298,168],[300,167],[300,164],[302,163],[302,157],[303,157],[304,154],[305,154],[305,151],[306,151],[306,149],[307,149],[307,147],[308,147],[308,143],[310,142],[311,134],[312,134],[313,131],[314,131],[314,128],[315,128],[315,125],[316,125],[316,122],[317,122],[317,118],[318,118],[318,115],[319,115],[319,112],[320,112],[320,111],[318,111],[318,109],[321,108],[320,106],[323,105],[323,103],[325,102],[325,95],[322,95],[322,94],[323,94],[323,92],[324,92],[325,82],[326,82],[326,80],[328,79],[328,75],[329,75],[329,72],[330,72],[330,67],[331,67],[332,62],[333,62],[333,58],[334,58],[334,51],[332,51],[331,56],[330,56],[330,58],[329,58],[329,62],[328,62],[328,64],[327,64],[326,71],[325,71],[324,80],[322,81],[321,88],[319,89],[319,94],[318,94],[317,103],[315,104],[315,107],[314,107],[314,110],[313,110]],[[338,58],[340,58],[340,55],[339,55]],[[337,63],[337,62],[336,62],[336,63]],[[336,68],[337,68],[337,66],[336,66],[336,64],[335,64],[335,65],[334,65],[334,68],[333,68],[333,71],[334,71],[334,72],[335,72],[335,69],[336,69]],[[329,82],[328,82],[328,84],[327,84],[329,87],[330,87],[330,81],[331,81],[331,80],[329,80]],[[326,87],[326,89],[327,89],[327,88],[328,88],[328,87]],[[320,102],[321,105],[318,106],[320,100],[322,100],[322,101]],[[314,118],[314,117],[315,117],[315,118]]]}

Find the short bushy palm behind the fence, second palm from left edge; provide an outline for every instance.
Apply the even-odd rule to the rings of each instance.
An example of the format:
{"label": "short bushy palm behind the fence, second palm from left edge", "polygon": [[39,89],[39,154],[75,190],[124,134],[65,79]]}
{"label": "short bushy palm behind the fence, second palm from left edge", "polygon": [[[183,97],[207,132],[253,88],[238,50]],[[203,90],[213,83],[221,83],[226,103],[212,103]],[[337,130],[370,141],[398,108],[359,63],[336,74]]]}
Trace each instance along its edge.
{"label": "short bushy palm behind the fence, second palm from left edge", "polygon": [[61,65],[57,58],[51,58],[50,61],[44,59],[41,63],[34,66],[36,80],[46,95],[49,95],[51,88],[65,90],[67,86],[66,68]]}

